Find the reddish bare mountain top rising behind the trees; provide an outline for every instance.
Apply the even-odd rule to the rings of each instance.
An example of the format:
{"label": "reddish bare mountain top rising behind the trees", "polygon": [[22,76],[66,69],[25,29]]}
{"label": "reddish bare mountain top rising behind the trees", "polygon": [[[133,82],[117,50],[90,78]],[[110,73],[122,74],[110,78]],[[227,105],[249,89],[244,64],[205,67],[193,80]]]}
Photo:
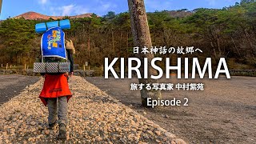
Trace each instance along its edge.
{"label": "reddish bare mountain top rising behind the trees", "polygon": [[[80,14],[80,15],[75,15],[75,16],[69,16],[70,18],[87,18],[87,17],[91,17],[92,14],[88,13],[88,14]],[[44,15],[44,14],[39,14],[36,13],[34,11],[30,11],[24,14],[20,14],[14,18],[25,18],[25,19],[49,19],[49,18],[53,18],[54,20],[56,19],[62,19],[64,18],[64,16],[48,16],[48,15]]]}

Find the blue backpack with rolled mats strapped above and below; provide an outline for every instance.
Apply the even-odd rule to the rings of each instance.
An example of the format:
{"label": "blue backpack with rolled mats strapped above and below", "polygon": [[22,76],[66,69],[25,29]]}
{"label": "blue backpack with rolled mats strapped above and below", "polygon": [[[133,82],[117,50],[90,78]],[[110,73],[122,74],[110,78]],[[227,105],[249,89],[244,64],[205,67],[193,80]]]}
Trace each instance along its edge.
{"label": "blue backpack with rolled mats strapped above and below", "polygon": [[70,20],[38,23],[35,31],[42,34],[42,62],[34,62],[35,73],[66,73],[70,72],[65,47],[64,29],[70,29]]}

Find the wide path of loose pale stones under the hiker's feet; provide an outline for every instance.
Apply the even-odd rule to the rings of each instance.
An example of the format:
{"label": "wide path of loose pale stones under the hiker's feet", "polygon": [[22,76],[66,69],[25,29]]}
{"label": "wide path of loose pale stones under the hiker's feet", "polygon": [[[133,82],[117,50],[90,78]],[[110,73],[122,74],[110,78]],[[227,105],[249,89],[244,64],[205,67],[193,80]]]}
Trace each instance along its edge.
{"label": "wide path of loose pale stones under the hiker's feet", "polygon": [[[66,143],[186,143],[110,97],[84,78],[70,78]],[[60,143],[47,129],[48,110],[38,98],[43,78],[0,106],[0,143]]]}

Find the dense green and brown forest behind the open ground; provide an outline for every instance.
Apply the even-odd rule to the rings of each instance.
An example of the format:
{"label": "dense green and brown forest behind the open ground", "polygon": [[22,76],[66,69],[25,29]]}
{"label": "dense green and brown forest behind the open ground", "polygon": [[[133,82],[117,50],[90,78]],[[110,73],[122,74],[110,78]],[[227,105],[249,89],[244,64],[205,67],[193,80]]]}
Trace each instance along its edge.
{"label": "dense green and brown forest behind the open ground", "polygon": [[[41,34],[34,25],[43,20],[9,18],[0,24],[0,63],[33,65],[40,55]],[[101,66],[104,58],[133,56],[133,41],[128,12],[103,17],[70,19],[66,38],[76,48],[74,61],[80,66]],[[242,1],[221,10],[156,11],[148,13],[153,46],[195,46],[200,58],[225,57],[230,69],[256,68],[256,2]],[[157,55],[160,56],[160,55]],[[178,55],[188,57],[188,55]],[[192,57],[191,55],[189,55]],[[165,54],[161,57],[170,57]]]}

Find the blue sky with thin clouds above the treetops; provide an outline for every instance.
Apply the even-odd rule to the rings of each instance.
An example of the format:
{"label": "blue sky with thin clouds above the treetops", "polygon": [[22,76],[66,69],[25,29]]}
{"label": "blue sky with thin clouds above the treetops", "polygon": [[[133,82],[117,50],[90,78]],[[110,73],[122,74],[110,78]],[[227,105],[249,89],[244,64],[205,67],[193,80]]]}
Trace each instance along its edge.
{"label": "blue sky with thin clouds above the treetops", "polygon": [[[146,11],[194,10],[196,8],[222,8],[233,6],[240,0],[144,0]],[[51,16],[72,16],[94,13],[100,16],[114,11],[116,14],[128,11],[127,0],[2,0],[0,19],[12,18],[34,11]]]}

